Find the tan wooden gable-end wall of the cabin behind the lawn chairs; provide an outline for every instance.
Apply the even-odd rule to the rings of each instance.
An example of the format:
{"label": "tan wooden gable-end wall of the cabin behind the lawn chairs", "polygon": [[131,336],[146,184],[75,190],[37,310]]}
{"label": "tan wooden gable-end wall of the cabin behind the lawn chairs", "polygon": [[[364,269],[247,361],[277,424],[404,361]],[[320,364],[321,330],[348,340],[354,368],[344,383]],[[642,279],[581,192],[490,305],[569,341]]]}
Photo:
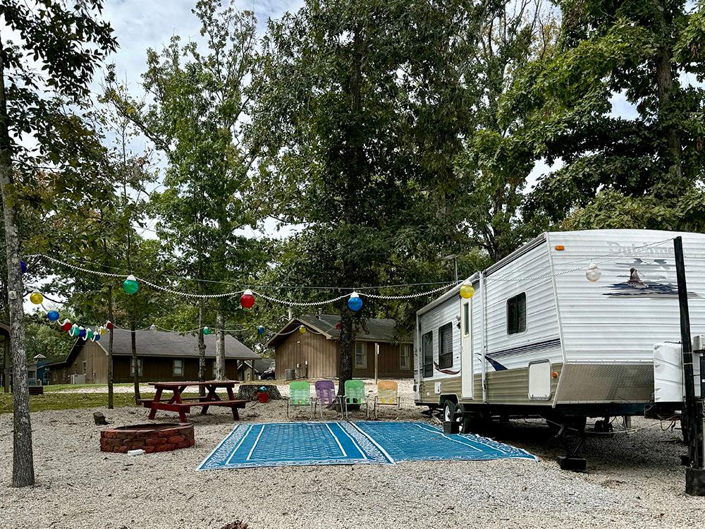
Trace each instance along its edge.
{"label": "tan wooden gable-end wall of the cabin behind the lawn chairs", "polygon": [[288,369],[297,364],[303,368],[308,360],[309,378],[331,378],[338,376],[338,343],[327,340],[313,332],[293,332],[276,346],[276,378],[285,378]]}

